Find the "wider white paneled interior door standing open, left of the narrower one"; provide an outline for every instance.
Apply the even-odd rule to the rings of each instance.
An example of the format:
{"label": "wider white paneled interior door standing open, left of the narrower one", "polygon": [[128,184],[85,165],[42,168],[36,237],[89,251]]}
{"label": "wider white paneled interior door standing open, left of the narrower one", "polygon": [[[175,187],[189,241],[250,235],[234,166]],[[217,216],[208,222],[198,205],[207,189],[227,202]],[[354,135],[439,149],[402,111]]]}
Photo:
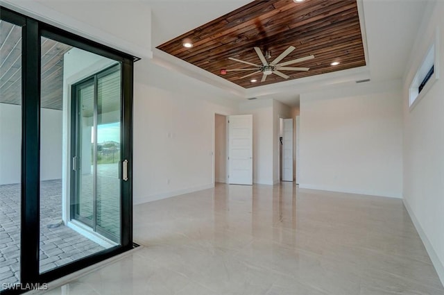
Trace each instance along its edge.
{"label": "wider white paneled interior door standing open, left of the narrower one", "polygon": [[228,116],[228,183],[253,185],[253,115]]}

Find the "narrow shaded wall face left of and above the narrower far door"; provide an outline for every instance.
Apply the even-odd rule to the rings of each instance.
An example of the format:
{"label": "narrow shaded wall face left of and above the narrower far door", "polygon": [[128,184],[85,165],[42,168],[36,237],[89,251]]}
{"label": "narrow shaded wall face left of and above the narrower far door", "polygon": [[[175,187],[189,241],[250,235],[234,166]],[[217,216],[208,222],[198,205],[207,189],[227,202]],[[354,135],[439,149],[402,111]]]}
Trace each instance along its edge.
{"label": "narrow shaded wall face left of and above the narrower far door", "polygon": [[273,99],[273,184],[279,183],[279,151],[281,144],[279,142],[279,118],[291,119],[291,108],[280,101]]}

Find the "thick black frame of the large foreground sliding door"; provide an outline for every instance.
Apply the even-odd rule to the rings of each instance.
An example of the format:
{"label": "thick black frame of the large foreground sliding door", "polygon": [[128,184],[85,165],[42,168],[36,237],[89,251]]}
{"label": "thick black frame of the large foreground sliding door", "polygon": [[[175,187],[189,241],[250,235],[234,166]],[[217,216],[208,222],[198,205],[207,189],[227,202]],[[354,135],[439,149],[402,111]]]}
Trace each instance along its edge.
{"label": "thick black frame of the large foreground sliding door", "polygon": [[[0,19],[22,27],[22,199],[20,283],[47,283],[133,248],[133,64],[134,56],[87,40],[0,6]],[[128,160],[128,181],[121,182],[121,244],[45,273],[40,249],[40,39],[52,40],[121,62],[121,159]],[[22,294],[7,289],[3,294]]]}

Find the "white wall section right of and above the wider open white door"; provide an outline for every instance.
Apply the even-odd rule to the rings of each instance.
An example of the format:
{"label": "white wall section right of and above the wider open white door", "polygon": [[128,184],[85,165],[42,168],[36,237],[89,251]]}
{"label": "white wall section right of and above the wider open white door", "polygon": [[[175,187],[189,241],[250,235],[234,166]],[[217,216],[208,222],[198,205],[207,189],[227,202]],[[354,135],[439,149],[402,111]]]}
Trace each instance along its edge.
{"label": "white wall section right of and above the wider open white door", "polygon": [[239,112],[253,115],[253,183],[273,185],[273,99],[244,101]]}

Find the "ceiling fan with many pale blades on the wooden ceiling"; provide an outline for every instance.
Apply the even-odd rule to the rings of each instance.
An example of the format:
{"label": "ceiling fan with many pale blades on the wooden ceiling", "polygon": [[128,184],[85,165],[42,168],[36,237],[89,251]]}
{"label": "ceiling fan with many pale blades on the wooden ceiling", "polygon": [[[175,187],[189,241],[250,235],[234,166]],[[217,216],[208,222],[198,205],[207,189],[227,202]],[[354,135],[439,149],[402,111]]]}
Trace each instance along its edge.
{"label": "ceiling fan with many pale blades on the wooden ceiling", "polygon": [[289,48],[287,48],[287,50],[285,50],[284,52],[280,53],[280,56],[278,56],[277,58],[275,58],[275,60],[268,62],[268,58],[270,58],[270,54],[267,51],[266,55],[264,56],[264,53],[262,53],[261,49],[259,49],[259,47],[254,47],[257,56],[259,56],[259,59],[262,62],[262,65],[256,65],[253,62],[246,62],[244,60],[238,60],[237,58],[228,58],[230,60],[234,60],[236,62],[242,62],[244,64],[247,65],[253,65],[253,68],[248,68],[248,69],[223,69],[221,70],[221,73],[228,72],[228,71],[255,71],[254,73],[248,74],[246,76],[241,77],[242,78],[246,78],[248,76],[253,76],[255,74],[261,73],[262,72],[262,80],[261,82],[264,82],[266,80],[266,77],[270,74],[276,74],[278,76],[281,76],[282,78],[288,79],[290,78],[290,76],[287,76],[286,74],[282,73],[282,71],[308,71],[310,68],[309,67],[286,67],[287,65],[293,65],[297,62],[303,62],[305,60],[311,60],[312,58],[314,58],[314,56],[305,56],[304,58],[297,58],[296,60],[289,60],[288,62],[280,62],[281,60],[283,60],[284,58],[286,58],[294,49],[296,49],[295,47],[291,46]]}

